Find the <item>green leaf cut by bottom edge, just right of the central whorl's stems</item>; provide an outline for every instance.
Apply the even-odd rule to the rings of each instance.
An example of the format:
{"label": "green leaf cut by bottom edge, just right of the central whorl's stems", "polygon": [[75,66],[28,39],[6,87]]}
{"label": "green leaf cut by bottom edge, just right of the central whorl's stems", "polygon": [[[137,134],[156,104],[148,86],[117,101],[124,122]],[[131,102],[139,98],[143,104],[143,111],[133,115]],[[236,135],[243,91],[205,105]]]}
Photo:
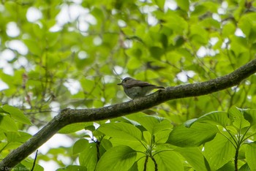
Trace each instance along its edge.
{"label": "green leaf cut by bottom edge, just right of the central whorl's stems", "polygon": [[210,170],[208,162],[200,148],[175,148],[175,151],[184,156],[186,161],[188,161],[195,170]]}

